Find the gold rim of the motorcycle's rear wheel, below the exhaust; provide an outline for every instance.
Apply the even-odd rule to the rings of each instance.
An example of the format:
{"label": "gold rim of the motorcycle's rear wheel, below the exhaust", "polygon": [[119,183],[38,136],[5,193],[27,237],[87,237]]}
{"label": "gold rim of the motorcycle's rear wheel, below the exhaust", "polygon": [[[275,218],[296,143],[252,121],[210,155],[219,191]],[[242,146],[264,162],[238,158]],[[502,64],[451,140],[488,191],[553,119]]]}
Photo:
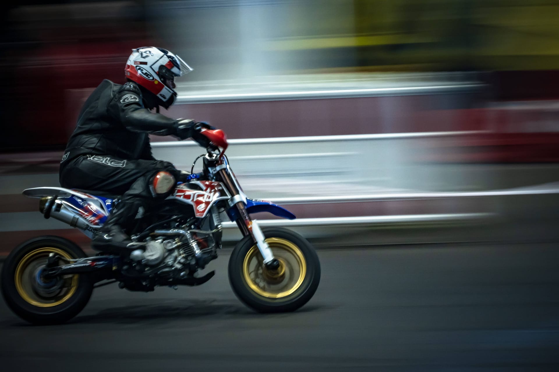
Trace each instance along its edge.
{"label": "gold rim of the motorcycle's rear wheel, below the exhaust", "polygon": [[[16,283],[17,293],[19,293],[21,298],[23,298],[27,303],[30,303],[33,306],[38,306],[38,307],[58,306],[61,303],[67,301],[68,298],[72,297],[76,289],[78,288],[78,275],[74,274],[71,276],[70,286],[61,288],[63,291],[64,289],[67,289],[67,291],[65,291],[65,294],[59,296],[60,298],[53,297],[52,299],[54,299],[54,302],[41,302],[38,301],[37,298],[33,298],[35,296],[32,296],[29,293],[30,288],[28,288],[29,286],[27,286],[25,283],[25,279],[30,274],[29,272],[26,272],[26,269],[29,268],[32,263],[36,262],[37,259],[40,259],[41,257],[45,257],[46,259],[50,253],[58,254],[60,255],[60,257],[63,257],[68,260],[72,259],[72,257],[67,252],[64,252],[64,250],[61,250],[59,248],[45,247],[45,248],[35,249],[32,252],[27,253],[25,257],[23,257],[23,259],[17,264],[16,267],[16,273],[14,279]],[[34,280],[34,278],[31,278],[31,280]],[[51,301],[51,299],[45,299],[45,301]]]}

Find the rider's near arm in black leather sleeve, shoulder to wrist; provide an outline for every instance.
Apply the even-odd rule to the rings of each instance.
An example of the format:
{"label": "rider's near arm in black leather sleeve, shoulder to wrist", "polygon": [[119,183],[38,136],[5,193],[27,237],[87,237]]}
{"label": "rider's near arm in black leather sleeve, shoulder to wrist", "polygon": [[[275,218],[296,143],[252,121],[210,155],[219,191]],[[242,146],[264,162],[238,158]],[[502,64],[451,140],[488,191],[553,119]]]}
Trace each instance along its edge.
{"label": "rider's near arm in black leather sleeve, shoulder to wrist", "polygon": [[152,113],[144,108],[141,91],[133,83],[124,84],[107,109],[112,117],[119,120],[130,131],[148,132],[157,136],[176,133],[178,120]]}

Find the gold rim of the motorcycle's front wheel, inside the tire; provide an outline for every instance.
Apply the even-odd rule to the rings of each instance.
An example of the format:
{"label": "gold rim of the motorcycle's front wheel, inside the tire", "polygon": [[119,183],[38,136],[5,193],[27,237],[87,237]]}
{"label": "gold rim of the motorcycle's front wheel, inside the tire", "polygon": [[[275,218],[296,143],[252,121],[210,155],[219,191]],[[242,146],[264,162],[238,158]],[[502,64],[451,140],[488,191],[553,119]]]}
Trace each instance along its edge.
{"label": "gold rim of the motorcycle's front wheel, inside the tire", "polygon": [[[307,271],[305,257],[301,249],[289,240],[268,238],[266,243],[272,249],[274,257],[280,261],[279,274],[266,275],[262,255],[257,245],[253,245],[243,261],[244,280],[248,287],[259,296],[266,298],[287,297],[297,291],[305,279]],[[283,276],[283,279],[278,282],[277,278],[281,276]],[[273,278],[273,280],[269,280],[270,278]]]}

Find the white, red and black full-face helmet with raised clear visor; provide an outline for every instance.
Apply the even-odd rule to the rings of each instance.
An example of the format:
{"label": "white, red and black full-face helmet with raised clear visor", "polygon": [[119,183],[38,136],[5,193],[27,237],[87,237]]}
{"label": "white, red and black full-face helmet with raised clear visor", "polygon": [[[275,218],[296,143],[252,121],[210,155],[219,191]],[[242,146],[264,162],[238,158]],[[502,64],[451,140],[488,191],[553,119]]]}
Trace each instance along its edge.
{"label": "white, red and black full-face helmet with raised clear visor", "polygon": [[[137,83],[150,106],[168,109],[177,98],[174,78],[190,73],[191,67],[181,57],[163,48],[144,46],[132,49],[124,70],[126,79]],[[150,94],[151,93],[151,94]]]}

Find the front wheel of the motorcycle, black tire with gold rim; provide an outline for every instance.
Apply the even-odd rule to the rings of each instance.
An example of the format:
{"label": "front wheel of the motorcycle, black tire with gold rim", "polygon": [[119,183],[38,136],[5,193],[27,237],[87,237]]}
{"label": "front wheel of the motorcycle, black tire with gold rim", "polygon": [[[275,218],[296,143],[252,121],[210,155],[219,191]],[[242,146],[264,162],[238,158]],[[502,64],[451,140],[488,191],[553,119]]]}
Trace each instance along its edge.
{"label": "front wheel of the motorcycle, black tire with gold rim", "polygon": [[251,236],[236,245],[229,259],[229,282],[236,296],[258,312],[295,311],[309,302],[320,282],[320,262],[312,245],[287,229],[263,229],[280,262],[269,270]]}

